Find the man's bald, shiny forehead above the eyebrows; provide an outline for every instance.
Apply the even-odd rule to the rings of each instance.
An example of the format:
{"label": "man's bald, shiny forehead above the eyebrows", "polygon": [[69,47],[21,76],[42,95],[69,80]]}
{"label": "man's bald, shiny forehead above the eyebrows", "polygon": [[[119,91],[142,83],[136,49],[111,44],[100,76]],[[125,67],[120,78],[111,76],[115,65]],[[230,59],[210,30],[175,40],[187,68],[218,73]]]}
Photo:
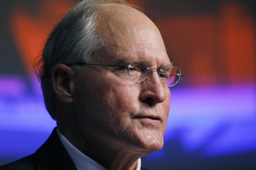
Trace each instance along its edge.
{"label": "man's bald, shiny forehead above the eyebrows", "polygon": [[103,62],[142,59],[152,66],[170,63],[158,28],[138,10],[120,4],[102,5],[97,21],[106,42]]}

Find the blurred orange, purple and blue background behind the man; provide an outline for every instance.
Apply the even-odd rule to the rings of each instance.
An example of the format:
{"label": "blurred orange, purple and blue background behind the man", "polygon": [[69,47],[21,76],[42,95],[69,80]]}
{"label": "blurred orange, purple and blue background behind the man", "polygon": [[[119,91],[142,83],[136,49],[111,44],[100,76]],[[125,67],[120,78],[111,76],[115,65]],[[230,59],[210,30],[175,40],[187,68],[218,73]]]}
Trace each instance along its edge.
{"label": "blurred orange, purple and blue background behind the man", "polygon": [[[0,165],[34,153],[56,122],[33,73],[44,43],[77,1],[0,1]],[[165,144],[148,169],[256,168],[256,1],[129,0],[162,33],[181,69]]]}

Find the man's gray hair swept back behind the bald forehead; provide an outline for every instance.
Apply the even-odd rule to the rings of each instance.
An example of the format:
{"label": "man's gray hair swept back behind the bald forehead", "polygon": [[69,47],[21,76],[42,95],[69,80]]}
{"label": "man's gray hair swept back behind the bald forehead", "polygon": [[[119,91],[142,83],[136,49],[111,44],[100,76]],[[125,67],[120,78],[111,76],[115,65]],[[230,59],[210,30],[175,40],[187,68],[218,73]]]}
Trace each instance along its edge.
{"label": "man's gray hair swept back behind the bald forehead", "polygon": [[[35,66],[45,101],[45,107],[56,120],[55,93],[52,87],[51,71],[58,63],[87,63],[90,57],[104,46],[97,31],[95,17],[100,3],[121,3],[123,0],[84,0],[79,2],[57,24],[43,49],[42,57]],[[130,5],[128,5],[130,6]],[[39,80],[39,81],[40,81]]]}

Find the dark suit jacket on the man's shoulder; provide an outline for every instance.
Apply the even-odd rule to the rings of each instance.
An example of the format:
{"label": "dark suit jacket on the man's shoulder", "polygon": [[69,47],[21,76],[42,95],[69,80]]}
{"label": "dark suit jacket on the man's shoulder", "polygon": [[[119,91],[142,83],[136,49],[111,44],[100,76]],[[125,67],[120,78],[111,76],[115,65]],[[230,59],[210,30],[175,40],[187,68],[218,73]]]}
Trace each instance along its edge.
{"label": "dark suit jacket on the man's shoulder", "polygon": [[[77,170],[61,143],[56,128],[47,141],[32,155],[3,165],[0,170]],[[141,168],[143,170],[143,168]],[[145,169],[144,169],[145,170]]]}

